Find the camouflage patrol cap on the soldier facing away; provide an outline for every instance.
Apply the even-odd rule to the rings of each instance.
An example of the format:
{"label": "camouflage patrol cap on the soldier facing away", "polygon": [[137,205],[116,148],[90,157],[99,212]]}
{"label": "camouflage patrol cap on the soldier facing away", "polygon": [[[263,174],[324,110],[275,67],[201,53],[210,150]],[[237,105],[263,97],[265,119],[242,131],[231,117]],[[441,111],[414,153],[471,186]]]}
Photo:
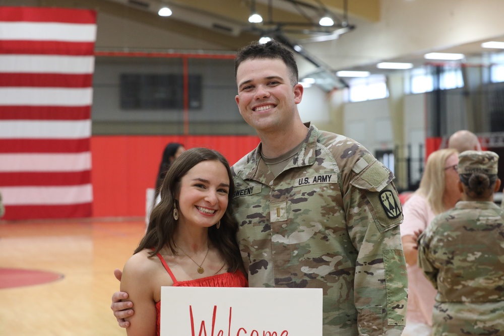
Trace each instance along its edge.
{"label": "camouflage patrol cap on the soldier facing away", "polygon": [[459,174],[497,174],[498,161],[490,151],[465,151],[459,154]]}

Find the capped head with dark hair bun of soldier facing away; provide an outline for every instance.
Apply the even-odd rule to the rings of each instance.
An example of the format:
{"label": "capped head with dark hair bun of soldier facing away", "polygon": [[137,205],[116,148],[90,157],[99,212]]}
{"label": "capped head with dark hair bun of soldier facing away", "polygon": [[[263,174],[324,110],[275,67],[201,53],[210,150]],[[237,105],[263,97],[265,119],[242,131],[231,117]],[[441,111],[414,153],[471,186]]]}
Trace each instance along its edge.
{"label": "capped head with dark hair bun of soldier facing away", "polygon": [[490,151],[465,151],[459,154],[459,178],[471,198],[489,197],[498,180],[499,156]]}

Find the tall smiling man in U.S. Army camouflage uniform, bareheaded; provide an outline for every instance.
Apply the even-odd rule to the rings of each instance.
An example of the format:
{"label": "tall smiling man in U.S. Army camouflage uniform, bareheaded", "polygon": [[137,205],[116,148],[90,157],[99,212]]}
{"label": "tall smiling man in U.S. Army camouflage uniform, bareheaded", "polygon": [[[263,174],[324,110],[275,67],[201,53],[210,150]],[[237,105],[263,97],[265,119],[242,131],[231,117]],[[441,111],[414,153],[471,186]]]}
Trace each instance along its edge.
{"label": "tall smiling man in U.S. Army camouflage uniform, bareheaded", "polygon": [[[355,141],[303,124],[297,65],[279,43],[238,51],[235,75],[261,139],[232,167],[249,286],[322,288],[324,336],[399,336],[407,274],[393,174]],[[123,294],[118,319],[132,313],[117,311]]]}

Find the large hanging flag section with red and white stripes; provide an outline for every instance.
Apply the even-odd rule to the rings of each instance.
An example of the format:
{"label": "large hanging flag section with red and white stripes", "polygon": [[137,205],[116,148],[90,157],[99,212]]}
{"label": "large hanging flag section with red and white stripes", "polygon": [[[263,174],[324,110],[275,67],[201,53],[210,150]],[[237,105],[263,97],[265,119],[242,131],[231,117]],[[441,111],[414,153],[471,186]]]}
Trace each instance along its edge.
{"label": "large hanging flag section with red and white stripes", "polygon": [[0,7],[2,219],[91,216],[95,39],[95,11]]}

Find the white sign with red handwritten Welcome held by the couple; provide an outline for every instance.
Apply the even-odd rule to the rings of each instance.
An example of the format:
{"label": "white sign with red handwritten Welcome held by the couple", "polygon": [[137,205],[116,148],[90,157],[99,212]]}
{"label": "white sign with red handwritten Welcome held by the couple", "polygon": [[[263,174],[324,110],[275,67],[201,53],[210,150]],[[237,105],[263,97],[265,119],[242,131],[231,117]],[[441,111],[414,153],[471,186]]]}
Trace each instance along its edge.
{"label": "white sign with red handwritten Welcome held by the couple", "polygon": [[322,336],[320,288],[161,287],[161,336]]}

